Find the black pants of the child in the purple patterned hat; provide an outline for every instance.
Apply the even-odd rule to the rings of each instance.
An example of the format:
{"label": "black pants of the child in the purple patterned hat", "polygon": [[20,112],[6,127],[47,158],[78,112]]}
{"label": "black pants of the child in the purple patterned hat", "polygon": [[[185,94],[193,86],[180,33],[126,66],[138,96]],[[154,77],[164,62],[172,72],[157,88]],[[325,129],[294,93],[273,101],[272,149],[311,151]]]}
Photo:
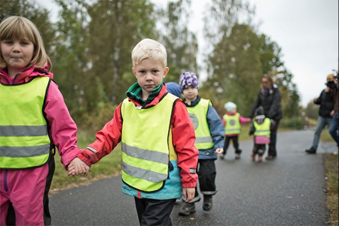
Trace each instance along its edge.
{"label": "black pants of the child in the purple patterned hat", "polygon": [[[200,191],[204,195],[216,194],[216,164],[214,159],[198,160],[198,180]],[[195,197],[199,196],[197,187]]]}

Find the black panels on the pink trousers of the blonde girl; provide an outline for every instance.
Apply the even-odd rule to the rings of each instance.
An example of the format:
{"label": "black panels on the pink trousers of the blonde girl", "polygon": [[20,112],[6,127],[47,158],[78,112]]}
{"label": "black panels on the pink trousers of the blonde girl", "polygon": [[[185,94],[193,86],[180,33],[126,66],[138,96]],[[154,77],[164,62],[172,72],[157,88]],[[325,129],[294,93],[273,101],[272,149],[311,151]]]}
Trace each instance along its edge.
{"label": "black panels on the pink trousers of the blonde girl", "polygon": [[[49,213],[48,192],[49,192],[49,188],[51,186],[54,171],[55,171],[55,160],[54,160],[53,155],[49,157],[48,162],[46,164],[48,164],[48,174],[47,174],[46,187],[45,187],[45,193],[44,193],[44,224],[51,225],[52,222],[51,222],[51,215]],[[11,202],[8,205],[6,224],[7,226],[15,226],[15,211],[14,211],[14,208]]]}

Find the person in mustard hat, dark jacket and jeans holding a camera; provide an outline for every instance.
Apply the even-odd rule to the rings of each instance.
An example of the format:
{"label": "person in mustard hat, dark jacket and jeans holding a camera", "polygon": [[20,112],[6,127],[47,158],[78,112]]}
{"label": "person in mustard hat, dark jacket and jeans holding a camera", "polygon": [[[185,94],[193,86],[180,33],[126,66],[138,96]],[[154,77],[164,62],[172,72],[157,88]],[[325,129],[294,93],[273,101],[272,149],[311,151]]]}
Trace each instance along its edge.
{"label": "person in mustard hat, dark jacket and jeans holding a camera", "polygon": [[308,154],[315,154],[317,153],[317,148],[320,140],[320,135],[325,128],[326,125],[329,125],[332,120],[331,111],[334,108],[334,101],[333,101],[333,89],[329,87],[330,82],[333,82],[333,74],[327,75],[326,78],[326,89],[324,89],[318,98],[313,100],[313,103],[316,105],[320,105],[319,108],[319,116],[317,121],[317,127],[314,132],[313,136],[313,144],[312,147],[305,150]]}

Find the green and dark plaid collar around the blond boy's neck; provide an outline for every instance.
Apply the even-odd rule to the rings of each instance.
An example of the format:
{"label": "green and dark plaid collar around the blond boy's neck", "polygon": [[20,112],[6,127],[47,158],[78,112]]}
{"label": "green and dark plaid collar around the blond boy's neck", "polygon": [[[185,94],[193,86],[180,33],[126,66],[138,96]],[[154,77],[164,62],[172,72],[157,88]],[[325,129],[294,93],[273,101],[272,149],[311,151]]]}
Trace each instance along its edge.
{"label": "green and dark plaid collar around the blond boy's neck", "polygon": [[159,94],[163,84],[164,84],[164,81],[161,81],[161,83],[151,91],[147,100],[142,99],[142,90],[141,90],[141,87],[139,86],[138,82],[134,83],[126,91],[126,95],[131,99],[137,100],[139,102],[139,104],[144,107],[144,106],[150,104],[154,100],[154,98]]}

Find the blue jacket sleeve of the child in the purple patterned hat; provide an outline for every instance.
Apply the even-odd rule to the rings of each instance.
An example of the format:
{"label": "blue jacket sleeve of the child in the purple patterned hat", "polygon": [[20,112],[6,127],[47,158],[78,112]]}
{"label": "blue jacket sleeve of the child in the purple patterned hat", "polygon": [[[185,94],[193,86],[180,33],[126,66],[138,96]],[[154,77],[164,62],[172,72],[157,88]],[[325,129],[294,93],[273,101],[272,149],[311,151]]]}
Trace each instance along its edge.
{"label": "blue jacket sleeve of the child in the purple patterned hat", "polygon": [[207,110],[207,122],[214,142],[214,149],[224,148],[225,130],[216,109],[209,105]]}

